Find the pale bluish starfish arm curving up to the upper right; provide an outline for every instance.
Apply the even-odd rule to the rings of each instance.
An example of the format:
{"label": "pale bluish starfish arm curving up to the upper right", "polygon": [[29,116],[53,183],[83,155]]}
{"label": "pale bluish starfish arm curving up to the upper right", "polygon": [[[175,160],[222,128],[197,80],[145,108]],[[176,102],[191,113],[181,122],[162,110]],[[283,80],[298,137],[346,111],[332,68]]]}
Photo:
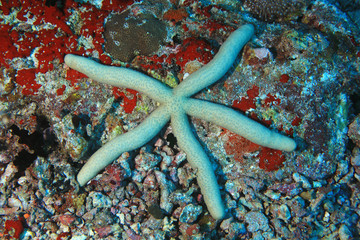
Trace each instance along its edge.
{"label": "pale bluish starfish arm curving up to the upper right", "polygon": [[243,25],[231,33],[215,57],[182,81],[174,89],[175,94],[189,97],[218,81],[232,67],[240,50],[253,34],[254,27],[251,24]]}

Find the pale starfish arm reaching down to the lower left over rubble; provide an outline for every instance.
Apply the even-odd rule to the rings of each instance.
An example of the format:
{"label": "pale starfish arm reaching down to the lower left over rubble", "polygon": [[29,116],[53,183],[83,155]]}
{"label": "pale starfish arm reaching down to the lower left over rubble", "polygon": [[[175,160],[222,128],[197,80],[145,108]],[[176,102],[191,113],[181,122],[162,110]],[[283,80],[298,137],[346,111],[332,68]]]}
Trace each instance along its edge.
{"label": "pale starfish arm reaching down to the lower left over rubble", "polygon": [[106,143],[90,157],[78,173],[77,181],[79,184],[85,185],[123,152],[134,150],[146,144],[169,120],[170,115],[167,110],[159,107],[139,126]]}

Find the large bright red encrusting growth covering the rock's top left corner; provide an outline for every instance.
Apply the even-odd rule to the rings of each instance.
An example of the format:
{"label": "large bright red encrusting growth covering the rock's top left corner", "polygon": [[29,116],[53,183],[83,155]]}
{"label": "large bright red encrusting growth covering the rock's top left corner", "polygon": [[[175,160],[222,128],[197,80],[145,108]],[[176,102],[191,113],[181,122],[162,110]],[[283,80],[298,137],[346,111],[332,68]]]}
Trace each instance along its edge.
{"label": "large bright red encrusting growth covering the rock's top left corner", "polygon": [[[16,58],[34,58],[34,66],[31,69],[19,70],[21,72],[17,73],[16,82],[22,86],[22,94],[24,95],[36,95],[41,85],[36,83],[35,74],[53,70],[54,60],[57,59],[59,63],[63,63],[64,56],[67,53],[88,55],[96,51],[100,61],[109,64],[110,58],[104,54],[102,49],[104,19],[110,11],[123,10],[133,2],[133,0],[105,1],[102,3],[101,9],[90,4],[81,4],[83,6],[80,10],[82,25],[79,34],[77,34],[66,23],[72,15],[73,9],[80,6],[80,3],[74,0],[65,1],[63,9],[56,6],[46,6],[41,0],[3,1],[2,6],[0,6],[0,11],[3,14],[9,15],[15,12],[14,9],[19,9],[18,12],[15,12],[17,21],[24,26],[31,22],[32,28],[19,30],[19,24],[2,24],[0,26],[0,41],[2,43],[0,46],[0,64],[9,68]],[[50,28],[45,27],[48,25]],[[78,39],[80,36],[91,39],[93,47],[85,49],[79,46]],[[77,82],[78,77],[74,73],[67,74],[67,79],[71,81],[71,87]],[[61,95],[64,91],[63,85],[61,89],[57,90],[57,94]]]}

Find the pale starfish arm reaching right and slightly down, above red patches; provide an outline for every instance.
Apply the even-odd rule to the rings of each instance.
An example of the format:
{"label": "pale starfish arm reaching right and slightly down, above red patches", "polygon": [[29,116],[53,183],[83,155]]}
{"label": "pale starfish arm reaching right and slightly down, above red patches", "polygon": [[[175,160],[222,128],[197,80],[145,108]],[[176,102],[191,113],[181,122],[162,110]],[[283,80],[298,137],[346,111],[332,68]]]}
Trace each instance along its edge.
{"label": "pale starfish arm reaching right and slightly down, above red patches", "polygon": [[224,127],[264,147],[282,151],[293,151],[293,139],[271,131],[243,114],[211,102],[189,99],[184,105],[187,114]]}

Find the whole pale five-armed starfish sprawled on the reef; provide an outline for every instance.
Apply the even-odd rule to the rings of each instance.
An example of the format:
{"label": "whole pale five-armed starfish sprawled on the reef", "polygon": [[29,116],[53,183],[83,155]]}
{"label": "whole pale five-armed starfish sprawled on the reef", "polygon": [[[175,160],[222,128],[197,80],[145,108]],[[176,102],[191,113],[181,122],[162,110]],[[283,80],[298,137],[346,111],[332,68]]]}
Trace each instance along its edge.
{"label": "whole pale five-armed starfish sprawled on the reef", "polygon": [[296,147],[291,138],[273,132],[231,108],[190,98],[225,75],[253,34],[254,27],[250,24],[234,31],[207,65],[191,74],[174,89],[128,68],[105,66],[85,57],[66,55],[66,65],[91,79],[135,89],[160,103],[139,126],[112,139],[95,152],[80,170],[77,176],[79,184],[85,185],[123,152],[146,144],[171,120],[177,143],[196,170],[197,181],[211,216],[215,219],[223,218],[225,210],[212,165],[192,132],[187,114],[215,123],[262,146],[284,151],[293,151]]}

